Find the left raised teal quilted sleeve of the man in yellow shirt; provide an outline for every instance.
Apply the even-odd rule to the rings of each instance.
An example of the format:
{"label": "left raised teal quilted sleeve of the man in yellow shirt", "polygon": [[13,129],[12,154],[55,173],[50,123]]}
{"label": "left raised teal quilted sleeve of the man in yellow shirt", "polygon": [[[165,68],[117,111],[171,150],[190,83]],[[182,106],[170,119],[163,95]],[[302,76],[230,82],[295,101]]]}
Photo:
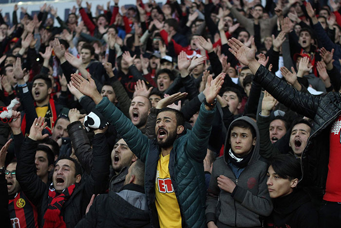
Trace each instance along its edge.
{"label": "left raised teal quilted sleeve of the man in yellow shirt", "polygon": [[116,106],[111,103],[108,98],[104,97],[102,101],[96,105],[96,109],[115,126],[128,147],[143,163],[146,162],[149,151],[149,142],[147,136],[137,129]]}

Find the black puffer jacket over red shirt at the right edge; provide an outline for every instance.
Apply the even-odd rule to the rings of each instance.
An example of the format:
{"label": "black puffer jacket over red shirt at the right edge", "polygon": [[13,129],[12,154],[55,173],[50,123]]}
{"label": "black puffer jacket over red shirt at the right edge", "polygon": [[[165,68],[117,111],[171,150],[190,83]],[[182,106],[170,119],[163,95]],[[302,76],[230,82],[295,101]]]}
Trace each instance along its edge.
{"label": "black puffer jacket over red shirt at the right edge", "polygon": [[328,173],[329,130],[341,113],[341,94],[330,92],[317,97],[302,93],[260,66],[254,81],[261,83],[277,101],[314,121],[307,145],[302,153],[302,184],[313,185],[313,191],[322,198]]}

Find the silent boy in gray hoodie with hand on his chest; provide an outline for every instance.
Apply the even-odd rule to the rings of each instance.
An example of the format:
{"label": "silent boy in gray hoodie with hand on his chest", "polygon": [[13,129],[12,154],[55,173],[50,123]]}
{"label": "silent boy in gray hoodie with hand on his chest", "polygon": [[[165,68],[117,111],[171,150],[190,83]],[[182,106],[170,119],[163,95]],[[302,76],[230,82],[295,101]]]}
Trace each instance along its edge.
{"label": "silent boy in gray hoodie with hand on his chest", "polygon": [[262,227],[272,204],[266,186],[267,164],[259,155],[257,124],[234,120],[227,131],[224,156],[212,168],[206,200],[208,228]]}

